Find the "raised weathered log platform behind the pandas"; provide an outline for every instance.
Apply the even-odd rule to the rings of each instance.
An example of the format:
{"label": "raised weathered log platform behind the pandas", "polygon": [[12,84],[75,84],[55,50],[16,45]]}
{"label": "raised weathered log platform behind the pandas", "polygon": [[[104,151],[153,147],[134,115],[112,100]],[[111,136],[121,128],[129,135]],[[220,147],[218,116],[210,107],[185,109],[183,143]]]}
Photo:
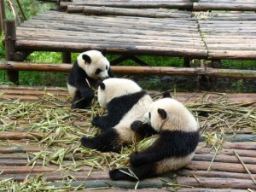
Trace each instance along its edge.
{"label": "raised weathered log platform behind the pandas", "polygon": [[[74,2],[76,3],[76,2]],[[256,14],[74,6],[47,11],[17,27],[17,51],[256,59]],[[79,12],[79,13],[77,13]],[[86,15],[81,15],[84,13]]]}

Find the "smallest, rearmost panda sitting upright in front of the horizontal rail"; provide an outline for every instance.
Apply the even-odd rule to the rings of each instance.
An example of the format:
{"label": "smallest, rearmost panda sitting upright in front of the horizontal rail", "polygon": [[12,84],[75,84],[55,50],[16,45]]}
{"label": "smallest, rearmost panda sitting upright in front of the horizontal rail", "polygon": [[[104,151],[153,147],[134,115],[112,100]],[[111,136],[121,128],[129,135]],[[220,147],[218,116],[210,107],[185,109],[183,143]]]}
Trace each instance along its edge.
{"label": "smallest, rearmost panda sitting upright in front of the horizontal rail", "polygon": [[72,108],[86,108],[91,105],[97,81],[113,77],[108,59],[98,50],[81,53],[68,75],[67,90],[73,98]]}

